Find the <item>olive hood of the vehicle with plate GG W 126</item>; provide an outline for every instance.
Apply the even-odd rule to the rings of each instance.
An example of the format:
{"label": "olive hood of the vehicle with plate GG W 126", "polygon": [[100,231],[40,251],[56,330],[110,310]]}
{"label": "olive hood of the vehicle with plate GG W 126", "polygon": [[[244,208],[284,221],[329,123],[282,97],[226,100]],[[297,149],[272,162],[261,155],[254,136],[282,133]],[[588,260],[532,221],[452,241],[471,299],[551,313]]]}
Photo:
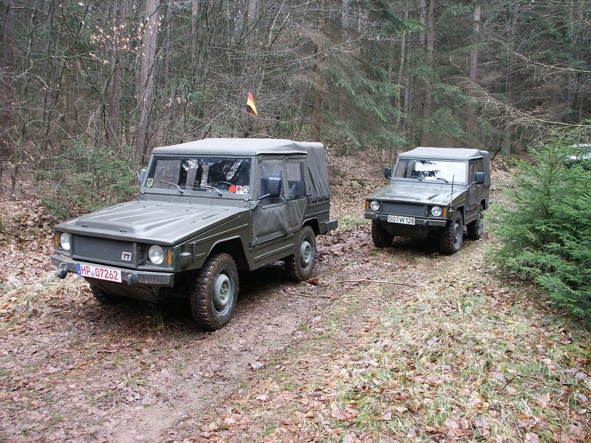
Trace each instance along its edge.
{"label": "olive hood of the vehicle with plate GG W 126", "polygon": [[[453,198],[465,192],[463,185],[454,185]],[[447,184],[396,183],[375,191],[368,198],[395,200],[408,203],[446,205],[450,202],[452,187]]]}

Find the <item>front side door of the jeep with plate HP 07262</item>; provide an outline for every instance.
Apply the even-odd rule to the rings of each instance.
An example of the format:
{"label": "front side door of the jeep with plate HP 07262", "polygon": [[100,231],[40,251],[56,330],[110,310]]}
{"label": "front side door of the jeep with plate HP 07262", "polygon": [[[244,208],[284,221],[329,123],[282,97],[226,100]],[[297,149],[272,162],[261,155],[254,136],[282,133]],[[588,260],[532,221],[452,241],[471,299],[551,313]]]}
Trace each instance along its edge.
{"label": "front side door of the jeep with plate HP 07262", "polygon": [[[258,196],[259,204],[252,210],[251,246],[285,236],[288,233],[287,204],[285,203],[285,182],[281,184],[279,197],[264,197],[268,194],[268,179],[283,180],[284,161],[281,159],[259,160],[256,176],[260,177]],[[255,177],[256,177],[255,176]],[[256,191],[256,190],[255,190]]]}

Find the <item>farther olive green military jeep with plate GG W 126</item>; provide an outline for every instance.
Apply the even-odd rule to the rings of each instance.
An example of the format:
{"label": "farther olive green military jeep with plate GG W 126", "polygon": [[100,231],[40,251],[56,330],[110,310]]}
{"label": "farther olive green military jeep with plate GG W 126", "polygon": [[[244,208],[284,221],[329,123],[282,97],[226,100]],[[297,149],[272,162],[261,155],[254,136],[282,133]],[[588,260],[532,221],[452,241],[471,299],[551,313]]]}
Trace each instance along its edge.
{"label": "farther olive green military jeep with plate GG W 126", "polygon": [[387,247],[395,236],[432,238],[439,251],[462,247],[464,226],[470,239],[482,235],[482,213],[488,208],[491,171],[487,151],[415,148],[398,155],[390,184],[365,201],[375,246]]}

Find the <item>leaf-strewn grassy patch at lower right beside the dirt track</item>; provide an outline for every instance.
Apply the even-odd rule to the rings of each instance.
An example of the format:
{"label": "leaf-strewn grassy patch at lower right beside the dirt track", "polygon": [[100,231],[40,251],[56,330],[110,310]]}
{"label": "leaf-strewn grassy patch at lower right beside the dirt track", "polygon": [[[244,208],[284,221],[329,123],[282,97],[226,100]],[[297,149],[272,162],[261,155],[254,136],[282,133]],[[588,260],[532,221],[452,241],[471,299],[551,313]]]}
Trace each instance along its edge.
{"label": "leaf-strewn grassy patch at lower right beside the dirt track", "polygon": [[[265,435],[324,442],[584,439],[589,334],[544,318],[501,281],[483,281],[482,271],[455,271],[419,294],[392,298],[373,318],[356,319],[366,326],[353,341],[327,361],[301,363],[310,373],[294,372],[281,389],[276,378],[260,380],[265,411],[280,405],[287,417]],[[247,399],[236,408],[252,406]],[[265,418],[274,422],[270,412]]]}

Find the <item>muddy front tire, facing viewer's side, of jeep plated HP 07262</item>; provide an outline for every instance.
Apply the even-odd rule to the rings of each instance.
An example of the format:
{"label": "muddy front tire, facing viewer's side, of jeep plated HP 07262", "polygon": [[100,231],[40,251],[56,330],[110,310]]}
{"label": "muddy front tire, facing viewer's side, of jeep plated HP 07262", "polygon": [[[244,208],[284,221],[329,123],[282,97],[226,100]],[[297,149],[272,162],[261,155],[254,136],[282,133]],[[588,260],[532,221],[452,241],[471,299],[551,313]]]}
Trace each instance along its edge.
{"label": "muddy front tire, facing viewer's side, of jeep plated HP 07262", "polygon": [[229,254],[209,256],[190,295],[191,314],[200,328],[215,331],[230,321],[238,298],[238,269]]}

